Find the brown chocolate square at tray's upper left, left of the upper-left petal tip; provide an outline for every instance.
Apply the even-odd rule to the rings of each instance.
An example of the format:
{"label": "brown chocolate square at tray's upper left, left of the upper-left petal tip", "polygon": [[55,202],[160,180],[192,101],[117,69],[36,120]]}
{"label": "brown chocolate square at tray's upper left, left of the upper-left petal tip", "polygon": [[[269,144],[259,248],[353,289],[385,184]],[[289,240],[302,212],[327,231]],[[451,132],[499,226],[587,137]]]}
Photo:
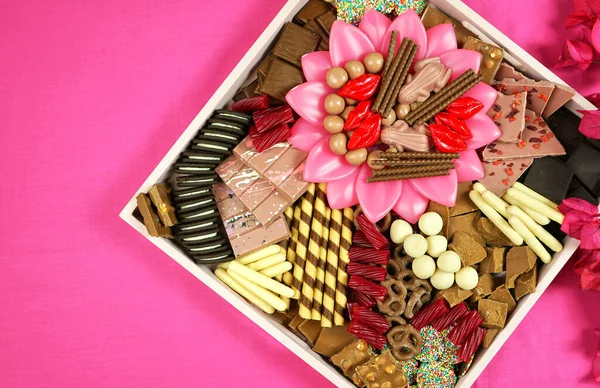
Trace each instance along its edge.
{"label": "brown chocolate square at tray's upper left, left of the upper-left petal tip", "polygon": [[[273,55],[277,58],[294,65],[297,68],[302,66],[300,59],[304,54],[311,53],[319,46],[321,39],[318,35],[312,33],[306,28],[300,27],[297,24],[288,22],[281,31],[275,47],[273,47]],[[269,74],[276,70],[271,63]]]}

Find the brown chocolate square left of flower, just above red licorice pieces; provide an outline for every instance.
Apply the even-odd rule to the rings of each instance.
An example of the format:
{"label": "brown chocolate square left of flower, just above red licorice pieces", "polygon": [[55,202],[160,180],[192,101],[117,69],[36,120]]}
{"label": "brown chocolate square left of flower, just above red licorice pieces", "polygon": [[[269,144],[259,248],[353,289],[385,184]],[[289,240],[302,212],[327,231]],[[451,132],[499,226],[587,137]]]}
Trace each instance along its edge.
{"label": "brown chocolate square left of flower, just above red licorice pieces", "polygon": [[269,95],[275,102],[284,102],[287,92],[303,82],[304,74],[302,73],[302,70],[281,59],[275,58],[260,87],[260,93]]}

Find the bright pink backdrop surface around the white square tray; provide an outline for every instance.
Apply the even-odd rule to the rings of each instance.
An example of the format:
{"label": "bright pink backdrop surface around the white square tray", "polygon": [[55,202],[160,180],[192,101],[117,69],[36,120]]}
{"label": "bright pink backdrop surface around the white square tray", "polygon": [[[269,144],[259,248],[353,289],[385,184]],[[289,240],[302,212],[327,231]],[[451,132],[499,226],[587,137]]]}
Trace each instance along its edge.
{"label": "bright pink backdrop surface around the white square tray", "polygon": [[[572,0],[467,3],[554,64]],[[0,386],[329,386],[118,218],[283,4],[0,2]],[[564,270],[477,387],[597,387],[598,306]]]}

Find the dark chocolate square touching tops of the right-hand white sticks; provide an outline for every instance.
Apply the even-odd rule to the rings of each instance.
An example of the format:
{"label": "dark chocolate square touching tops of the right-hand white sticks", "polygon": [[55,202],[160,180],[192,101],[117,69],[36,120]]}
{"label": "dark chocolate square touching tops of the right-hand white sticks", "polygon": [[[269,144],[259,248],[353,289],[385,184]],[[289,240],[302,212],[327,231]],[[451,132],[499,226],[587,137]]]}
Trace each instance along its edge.
{"label": "dark chocolate square touching tops of the right-hand white sticks", "polygon": [[[596,163],[600,166],[600,159]],[[556,158],[536,159],[529,168],[524,184],[544,197],[561,203],[573,179],[572,168]]]}

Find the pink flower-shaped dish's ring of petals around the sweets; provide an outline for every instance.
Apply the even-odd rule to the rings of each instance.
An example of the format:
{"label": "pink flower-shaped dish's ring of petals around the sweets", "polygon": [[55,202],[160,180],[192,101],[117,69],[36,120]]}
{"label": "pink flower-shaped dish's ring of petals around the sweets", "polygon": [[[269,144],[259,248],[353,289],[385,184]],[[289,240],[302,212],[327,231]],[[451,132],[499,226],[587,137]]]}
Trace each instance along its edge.
{"label": "pink flower-shaped dish's ring of petals around the sweets", "polygon": [[309,152],[304,179],[327,182],[327,198],[332,208],[360,203],[364,214],[372,222],[380,220],[391,209],[410,222],[416,222],[429,200],[453,206],[458,182],[483,176],[483,167],[475,150],[500,136],[500,130],[486,114],[494,104],[497,92],[489,85],[479,83],[466,95],[481,101],[485,108],[471,119],[474,123],[470,126],[473,139],[468,144],[468,150],[456,162],[456,170],[452,170],[449,176],[367,183],[366,178],[371,176],[372,171],[366,164],[352,166],[344,156],[331,152],[328,147],[331,134],[322,125],[327,115],[322,101],[332,92],[324,74],[333,66],[362,60],[373,51],[386,55],[387,42],[394,30],[398,31],[398,44],[403,38],[410,38],[419,45],[418,59],[440,57],[441,62],[452,69],[453,79],[469,68],[479,71],[481,55],[457,49],[452,28],[437,26],[427,31],[412,10],[401,14],[394,22],[370,10],[358,27],[339,20],[334,22],[329,40],[329,58],[324,52],[305,55],[302,58],[302,70],[308,82],[292,89],[286,96],[287,102],[303,119],[294,125],[289,142]]}

